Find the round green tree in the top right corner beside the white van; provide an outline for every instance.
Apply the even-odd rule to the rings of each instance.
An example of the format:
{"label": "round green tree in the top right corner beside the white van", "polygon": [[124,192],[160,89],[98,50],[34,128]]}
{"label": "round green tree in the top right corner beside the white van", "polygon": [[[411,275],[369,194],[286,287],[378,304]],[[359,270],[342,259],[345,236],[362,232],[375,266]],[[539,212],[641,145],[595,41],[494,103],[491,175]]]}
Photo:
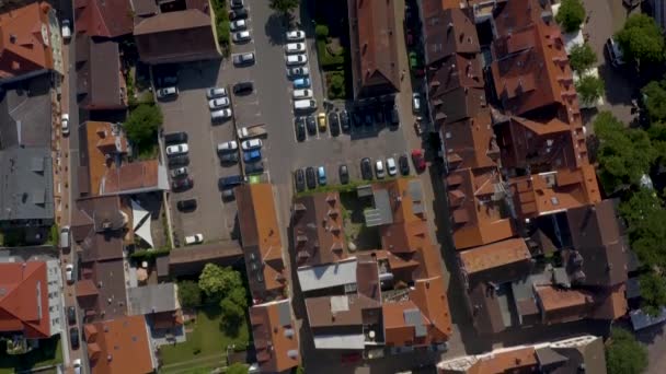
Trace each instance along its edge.
{"label": "round green tree in the top right corner beside the white van", "polygon": [[632,14],[616,34],[625,61],[658,63],[664,60],[664,36],[650,15]]}

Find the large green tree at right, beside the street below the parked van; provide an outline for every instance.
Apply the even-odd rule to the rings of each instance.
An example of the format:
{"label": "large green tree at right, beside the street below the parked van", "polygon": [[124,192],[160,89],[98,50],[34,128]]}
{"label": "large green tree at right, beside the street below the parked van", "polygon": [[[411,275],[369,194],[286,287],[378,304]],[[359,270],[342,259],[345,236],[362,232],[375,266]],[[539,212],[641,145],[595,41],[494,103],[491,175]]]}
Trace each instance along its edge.
{"label": "large green tree at right, beside the street below the parked van", "polygon": [[599,140],[599,177],[607,192],[623,185],[636,184],[656,157],[647,133],[624,128],[610,112],[601,112],[594,121]]}

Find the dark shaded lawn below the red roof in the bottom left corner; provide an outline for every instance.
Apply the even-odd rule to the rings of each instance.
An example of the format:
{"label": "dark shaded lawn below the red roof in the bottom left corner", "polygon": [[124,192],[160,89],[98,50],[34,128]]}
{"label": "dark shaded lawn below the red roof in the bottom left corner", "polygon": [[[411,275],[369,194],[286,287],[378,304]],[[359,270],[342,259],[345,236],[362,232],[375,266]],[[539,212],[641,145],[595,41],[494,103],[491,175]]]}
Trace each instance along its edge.
{"label": "dark shaded lawn below the red roof in the bottom left corner", "polygon": [[0,341],[0,374],[62,363],[62,347],[59,335],[39,341],[39,348],[25,354],[9,355],[5,351],[7,343]]}

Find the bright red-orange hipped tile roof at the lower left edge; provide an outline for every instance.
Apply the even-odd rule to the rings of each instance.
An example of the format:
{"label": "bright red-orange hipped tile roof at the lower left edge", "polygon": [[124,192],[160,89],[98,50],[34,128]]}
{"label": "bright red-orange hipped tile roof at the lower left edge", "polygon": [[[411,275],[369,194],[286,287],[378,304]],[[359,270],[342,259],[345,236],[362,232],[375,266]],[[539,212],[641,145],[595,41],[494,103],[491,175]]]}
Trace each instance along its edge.
{"label": "bright red-orange hipped tile roof at the lower left edge", "polygon": [[46,262],[0,264],[0,332],[51,336]]}

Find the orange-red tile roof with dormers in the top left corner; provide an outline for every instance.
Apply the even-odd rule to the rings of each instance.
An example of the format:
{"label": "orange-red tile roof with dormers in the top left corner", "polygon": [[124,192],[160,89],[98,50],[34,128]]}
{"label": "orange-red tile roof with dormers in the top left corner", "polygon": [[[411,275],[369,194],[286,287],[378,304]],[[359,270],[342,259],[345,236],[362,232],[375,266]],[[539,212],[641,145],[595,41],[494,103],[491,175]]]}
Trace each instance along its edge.
{"label": "orange-red tile roof with dormers in the top left corner", "polygon": [[53,49],[46,2],[0,14],[0,80],[53,69]]}

